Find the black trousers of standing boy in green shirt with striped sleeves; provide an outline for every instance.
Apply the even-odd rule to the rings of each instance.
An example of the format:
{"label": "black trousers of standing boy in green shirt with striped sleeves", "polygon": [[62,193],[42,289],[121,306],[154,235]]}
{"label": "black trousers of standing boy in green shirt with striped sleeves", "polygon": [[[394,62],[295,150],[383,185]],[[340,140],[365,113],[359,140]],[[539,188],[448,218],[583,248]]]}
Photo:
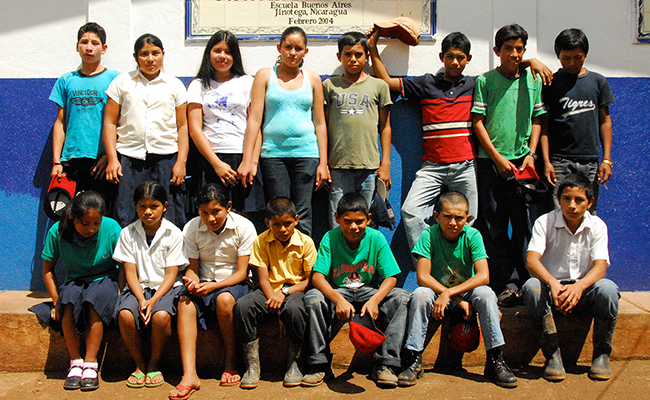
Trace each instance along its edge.
{"label": "black trousers of standing boy in green shirt with striped sleeves", "polygon": [[[510,162],[519,168],[523,160]],[[528,204],[517,194],[516,182],[501,177],[491,159],[479,158],[476,165],[479,218],[474,227],[481,232],[489,257],[490,287],[497,293],[509,283],[520,288],[530,276],[525,264],[531,237]]]}

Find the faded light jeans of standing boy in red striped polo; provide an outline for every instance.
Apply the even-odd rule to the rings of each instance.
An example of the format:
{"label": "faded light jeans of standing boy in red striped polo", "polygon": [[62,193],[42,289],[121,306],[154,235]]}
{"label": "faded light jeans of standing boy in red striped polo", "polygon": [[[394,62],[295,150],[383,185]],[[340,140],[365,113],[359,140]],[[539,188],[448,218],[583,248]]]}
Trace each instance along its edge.
{"label": "faded light jeans of standing boy in red striped polo", "polygon": [[469,213],[474,218],[477,217],[478,192],[475,165],[475,160],[451,164],[439,164],[431,161],[422,163],[422,167],[415,174],[415,180],[406,200],[402,204],[402,221],[411,250],[422,232],[435,224],[435,221],[429,220],[432,219],[433,208],[443,191],[464,194],[469,200]]}

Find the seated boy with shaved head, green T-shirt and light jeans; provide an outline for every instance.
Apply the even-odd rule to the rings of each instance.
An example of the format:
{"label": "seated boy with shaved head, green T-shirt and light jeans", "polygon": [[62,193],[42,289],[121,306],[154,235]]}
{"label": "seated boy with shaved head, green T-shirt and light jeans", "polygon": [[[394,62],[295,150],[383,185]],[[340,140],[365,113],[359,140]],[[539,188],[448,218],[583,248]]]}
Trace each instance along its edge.
{"label": "seated boy with shaved head, green T-shirt and light jeans", "polygon": [[505,344],[499,326],[499,308],[490,281],[487,254],[478,230],[466,225],[467,197],[459,192],[440,196],[433,216],[438,222],[427,228],[413,248],[418,257],[418,287],[409,304],[409,327],[405,349],[410,366],[399,375],[400,386],[415,385],[422,375],[422,351],[429,318],[442,319],[445,310],[460,307],[469,319],[475,309],[487,350],[485,375],[497,385],[516,387],[517,378],[503,361]]}

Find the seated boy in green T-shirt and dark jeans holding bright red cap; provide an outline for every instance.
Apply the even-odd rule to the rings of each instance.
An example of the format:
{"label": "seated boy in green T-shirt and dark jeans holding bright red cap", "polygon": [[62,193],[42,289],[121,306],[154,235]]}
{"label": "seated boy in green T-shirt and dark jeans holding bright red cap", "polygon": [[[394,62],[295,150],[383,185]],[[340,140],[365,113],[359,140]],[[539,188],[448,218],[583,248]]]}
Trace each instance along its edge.
{"label": "seated boy in green T-shirt and dark jeans holding bright red cap", "polygon": [[371,215],[363,195],[351,192],[339,201],[336,222],[320,242],[311,276],[314,289],[305,295],[309,316],[307,363],[303,386],[318,386],[332,376],[329,342],[334,317],[349,321],[357,312],[385,322],[386,340],[375,353],[372,379],[397,386],[393,370],[401,367],[409,294],[395,288],[400,268],[384,235],[368,227]]}

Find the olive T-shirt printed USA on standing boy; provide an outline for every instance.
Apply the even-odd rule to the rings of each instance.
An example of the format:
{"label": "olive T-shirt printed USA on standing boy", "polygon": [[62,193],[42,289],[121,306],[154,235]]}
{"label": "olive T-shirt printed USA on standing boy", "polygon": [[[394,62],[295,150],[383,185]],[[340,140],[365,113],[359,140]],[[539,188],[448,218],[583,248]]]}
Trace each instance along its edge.
{"label": "olive T-shirt printed USA on standing boy", "polygon": [[368,76],[350,83],[335,76],[323,83],[330,168],[379,168],[379,110],[390,106],[388,84]]}

